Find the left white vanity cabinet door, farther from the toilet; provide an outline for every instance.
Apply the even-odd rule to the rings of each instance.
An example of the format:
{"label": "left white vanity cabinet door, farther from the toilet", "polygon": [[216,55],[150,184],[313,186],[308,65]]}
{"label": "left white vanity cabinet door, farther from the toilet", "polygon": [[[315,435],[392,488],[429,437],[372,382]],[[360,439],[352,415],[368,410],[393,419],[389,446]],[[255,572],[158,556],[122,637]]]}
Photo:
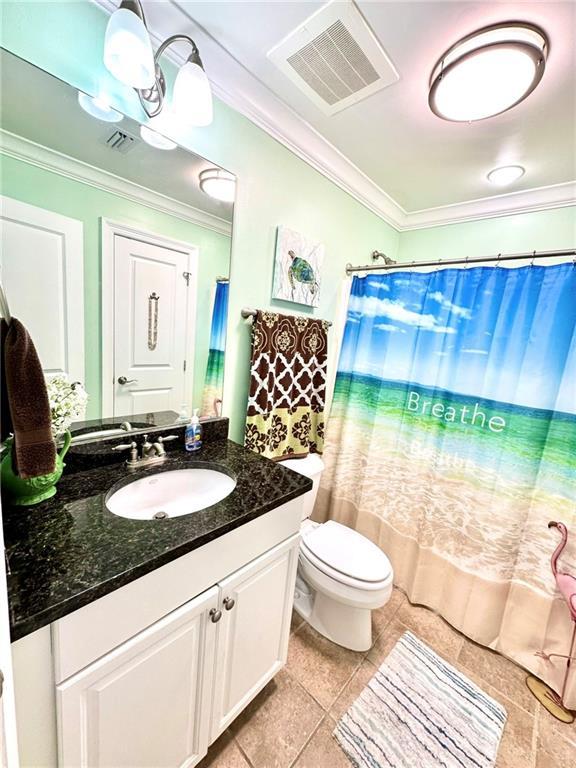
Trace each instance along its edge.
{"label": "left white vanity cabinet door, farther from the toilet", "polygon": [[57,686],[59,764],[188,768],[206,753],[212,587]]}

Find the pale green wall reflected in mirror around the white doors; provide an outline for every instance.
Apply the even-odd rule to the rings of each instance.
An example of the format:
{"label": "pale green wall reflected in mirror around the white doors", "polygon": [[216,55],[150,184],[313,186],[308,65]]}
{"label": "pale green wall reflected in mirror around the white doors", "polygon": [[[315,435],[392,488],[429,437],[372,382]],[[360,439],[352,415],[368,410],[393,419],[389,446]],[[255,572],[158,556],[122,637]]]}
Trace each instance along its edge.
{"label": "pale green wall reflected in mirror around the white doors", "polygon": [[79,219],[84,226],[85,385],[90,395],[88,418],[100,416],[102,402],[100,217],[141,226],[159,235],[198,246],[193,402],[199,406],[208,359],[212,289],[216,277],[228,274],[230,238],[6,155],[0,155],[0,174],[2,194]]}

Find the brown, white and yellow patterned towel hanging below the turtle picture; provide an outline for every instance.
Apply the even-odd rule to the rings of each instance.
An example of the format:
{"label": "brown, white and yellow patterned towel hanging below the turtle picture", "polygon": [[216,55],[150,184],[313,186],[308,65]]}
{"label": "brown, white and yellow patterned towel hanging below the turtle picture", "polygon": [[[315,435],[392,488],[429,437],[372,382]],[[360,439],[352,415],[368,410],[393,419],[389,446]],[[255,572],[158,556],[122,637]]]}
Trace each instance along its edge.
{"label": "brown, white and yellow patterned towel hanging below the turtle picture", "polygon": [[324,449],[328,323],[258,311],[245,444],[270,459]]}

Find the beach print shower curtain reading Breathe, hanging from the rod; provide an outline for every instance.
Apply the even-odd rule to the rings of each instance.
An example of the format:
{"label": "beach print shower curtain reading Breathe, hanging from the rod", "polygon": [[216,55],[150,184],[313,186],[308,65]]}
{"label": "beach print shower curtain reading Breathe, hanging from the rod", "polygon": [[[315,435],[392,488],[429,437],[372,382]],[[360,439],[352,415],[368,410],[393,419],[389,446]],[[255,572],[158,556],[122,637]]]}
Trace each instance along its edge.
{"label": "beach print shower curtain reading Breathe, hanging from the rod", "polygon": [[[411,601],[557,690],[576,573],[576,267],[355,277],[316,519],[378,543]],[[567,703],[576,708],[576,672]]]}

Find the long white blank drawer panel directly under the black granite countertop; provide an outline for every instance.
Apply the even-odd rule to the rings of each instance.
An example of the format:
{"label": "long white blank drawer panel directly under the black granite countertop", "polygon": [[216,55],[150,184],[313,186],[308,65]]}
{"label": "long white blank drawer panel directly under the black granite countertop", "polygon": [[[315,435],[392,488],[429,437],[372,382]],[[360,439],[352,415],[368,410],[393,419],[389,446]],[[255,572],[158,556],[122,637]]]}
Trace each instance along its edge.
{"label": "long white blank drawer panel directly under the black granite countertop", "polygon": [[60,683],[300,529],[289,501],[52,624]]}

